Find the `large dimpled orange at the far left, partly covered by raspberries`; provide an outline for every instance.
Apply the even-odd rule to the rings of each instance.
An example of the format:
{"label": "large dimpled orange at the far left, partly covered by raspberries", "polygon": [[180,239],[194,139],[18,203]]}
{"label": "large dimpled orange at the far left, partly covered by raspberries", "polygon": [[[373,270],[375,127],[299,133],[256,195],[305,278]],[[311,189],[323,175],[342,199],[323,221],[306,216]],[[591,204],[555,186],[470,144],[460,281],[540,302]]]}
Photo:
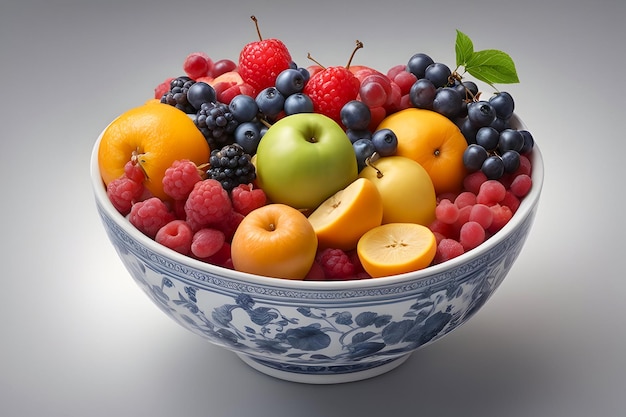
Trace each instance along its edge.
{"label": "large dimpled orange at the far left, partly covered by raspberries", "polygon": [[146,179],[144,186],[163,200],[163,176],[172,163],[188,159],[208,162],[209,145],[193,120],[168,104],[149,101],[119,115],[102,132],[98,165],[105,185],[124,174],[124,165],[136,160]]}

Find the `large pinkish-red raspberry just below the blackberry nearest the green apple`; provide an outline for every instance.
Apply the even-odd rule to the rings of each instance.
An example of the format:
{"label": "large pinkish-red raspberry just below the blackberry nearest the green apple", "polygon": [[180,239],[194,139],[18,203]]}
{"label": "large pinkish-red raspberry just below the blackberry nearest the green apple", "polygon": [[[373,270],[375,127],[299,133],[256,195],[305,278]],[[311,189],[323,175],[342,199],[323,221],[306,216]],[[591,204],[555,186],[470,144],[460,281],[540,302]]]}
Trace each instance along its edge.
{"label": "large pinkish-red raspberry just below the blackberry nearest the green apple", "polygon": [[185,201],[187,221],[194,230],[224,221],[231,211],[228,193],[213,179],[197,182]]}

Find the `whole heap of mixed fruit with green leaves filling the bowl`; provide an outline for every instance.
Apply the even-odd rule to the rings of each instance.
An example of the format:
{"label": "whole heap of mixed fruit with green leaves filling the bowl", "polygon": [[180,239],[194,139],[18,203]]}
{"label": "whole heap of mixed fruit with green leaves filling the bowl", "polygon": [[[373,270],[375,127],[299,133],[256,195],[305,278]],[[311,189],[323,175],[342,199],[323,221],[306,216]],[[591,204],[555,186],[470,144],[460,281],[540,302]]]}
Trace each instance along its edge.
{"label": "whole heap of mixed fruit with green leaves filling the bowl", "polygon": [[189,54],[103,132],[107,195],[134,227],[225,268],[347,280],[445,262],[515,214],[534,139],[509,93],[459,72],[518,82],[508,55],[457,31],[455,70],[423,53],[351,65],[359,41],[345,66],[301,67],[256,27],[238,62]]}

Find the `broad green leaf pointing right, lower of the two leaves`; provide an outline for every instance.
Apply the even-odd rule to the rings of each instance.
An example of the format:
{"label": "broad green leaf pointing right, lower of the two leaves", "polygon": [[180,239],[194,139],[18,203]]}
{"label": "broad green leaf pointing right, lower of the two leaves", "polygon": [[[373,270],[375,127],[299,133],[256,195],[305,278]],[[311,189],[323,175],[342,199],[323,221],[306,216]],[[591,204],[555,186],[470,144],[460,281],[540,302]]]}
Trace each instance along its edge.
{"label": "broad green leaf pointing right, lower of the two leaves", "polygon": [[496,49],[474,52],[465,62],[465,70],[487,84],[514,84],[519,82],[511,57]]}

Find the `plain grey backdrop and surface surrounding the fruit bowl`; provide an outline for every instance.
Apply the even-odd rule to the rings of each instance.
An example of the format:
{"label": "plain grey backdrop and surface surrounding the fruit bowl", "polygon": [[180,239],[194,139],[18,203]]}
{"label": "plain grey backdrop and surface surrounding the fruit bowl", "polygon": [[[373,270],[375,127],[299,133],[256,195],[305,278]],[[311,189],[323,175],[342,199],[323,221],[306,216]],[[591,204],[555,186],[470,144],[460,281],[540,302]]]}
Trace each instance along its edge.
{"label": "plain grey backdrop and surface surrounding the fruit bowl", "polygon": [[[236,6],[233,4],[237,4]],[[4,1],[0,5],[3,416],[621,416],[626,3]],[[163,315],[95,213],[93,142],[205,51],[279,37],[302,65],[454,64],[455,29],[508,52],[504,86],[546,160],[534,229],[466,326],[375,379],[283,382]]]}

